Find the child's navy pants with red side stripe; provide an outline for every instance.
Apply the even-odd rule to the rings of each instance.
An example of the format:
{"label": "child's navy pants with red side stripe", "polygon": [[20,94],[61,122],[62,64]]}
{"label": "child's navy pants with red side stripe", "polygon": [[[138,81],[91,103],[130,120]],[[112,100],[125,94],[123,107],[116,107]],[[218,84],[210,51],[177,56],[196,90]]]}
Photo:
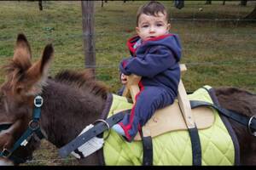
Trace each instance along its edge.
{"label": "child's navy pants with red side stripe", "polygon": [[167,105],[171,105],[176,96],[164,88],[147,86],[141,88],[136,96],[136,103],[131,114],[126,114],[119,125],[125,131],[125,138],[131,142],[138,130],[148,122],[154,112]]}

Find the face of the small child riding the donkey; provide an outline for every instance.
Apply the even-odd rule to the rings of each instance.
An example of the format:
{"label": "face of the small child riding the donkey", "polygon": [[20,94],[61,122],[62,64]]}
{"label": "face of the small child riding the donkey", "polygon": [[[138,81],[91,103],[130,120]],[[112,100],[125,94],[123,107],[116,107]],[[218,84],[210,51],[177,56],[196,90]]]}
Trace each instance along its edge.
{"label": "face of the small child riding the donkey", "polygon": [[157,16],[141,14],[136,31],[137,35],[145,41],[152,37],[165,35],[170,27],[171,25],[166,20],[166,14],[159,13]]}

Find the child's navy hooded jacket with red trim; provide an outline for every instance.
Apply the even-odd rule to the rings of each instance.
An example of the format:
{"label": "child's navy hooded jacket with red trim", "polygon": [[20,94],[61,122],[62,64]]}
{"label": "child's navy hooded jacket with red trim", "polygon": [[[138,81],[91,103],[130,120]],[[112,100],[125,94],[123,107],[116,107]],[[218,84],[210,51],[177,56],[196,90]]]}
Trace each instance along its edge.
{"label": "child's navy hooded jacket with red trim", "polygon": [[134,48],[139,40],[138,36],[128,40],[127,46],[132,56],[120,62],[120,71],[125,75],[141,76],[141,86],[160,86],[177,96],[180,80],[178,61],[182,50],[177,35],[150,38]]}

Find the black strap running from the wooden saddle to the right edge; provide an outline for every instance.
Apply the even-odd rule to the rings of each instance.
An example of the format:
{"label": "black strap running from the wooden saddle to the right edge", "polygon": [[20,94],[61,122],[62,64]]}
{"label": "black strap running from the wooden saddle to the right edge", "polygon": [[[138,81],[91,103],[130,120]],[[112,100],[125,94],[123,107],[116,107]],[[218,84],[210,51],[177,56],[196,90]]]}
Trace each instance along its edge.
{"label": "black strap running from the wooden saddle to the right edge", "polygon": [[191,105],[191,108],[200,107],[200,106],[212,107],[216,109],[220,114],[230,117],[230,119],[233,119],[234,121],[239,122],[242,125],[245,125],[248,128],[250,129],[252,128],[254,131],[256,131],[256,119],[253,116],[252,117],[244,116],[244,115],[241,115],[241,113],[230,111],[222,107],[219,107],[218,105],[213,105],[205,101],[190,100],[190,105]]}

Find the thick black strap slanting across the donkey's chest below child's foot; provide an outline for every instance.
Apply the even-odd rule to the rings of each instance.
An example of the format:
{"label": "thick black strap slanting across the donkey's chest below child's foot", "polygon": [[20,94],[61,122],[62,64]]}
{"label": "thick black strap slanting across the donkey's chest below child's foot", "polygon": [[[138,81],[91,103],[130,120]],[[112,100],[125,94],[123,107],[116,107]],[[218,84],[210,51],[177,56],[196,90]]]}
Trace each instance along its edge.
{"label": "thick black strap slanting across the donkey's chest below child's foot", "polygon": [[79,148],[79,146],[83,145],[93,137],[95,137],[98,134],[103,133],[105,130],[109,130],[109,127],[113,127],[114,124],[119,122],[124,117],[124,112],[119,112],[111,117],[109,117],[106,122],[108,125],[104,122],[97,123],[94,127],[90,128],[85,133],[79,135],[77,138],[73,139],[70,143],[64,145],[59,150],[59,155],[64,158],[68,156],[73,150],[76,150]]}

